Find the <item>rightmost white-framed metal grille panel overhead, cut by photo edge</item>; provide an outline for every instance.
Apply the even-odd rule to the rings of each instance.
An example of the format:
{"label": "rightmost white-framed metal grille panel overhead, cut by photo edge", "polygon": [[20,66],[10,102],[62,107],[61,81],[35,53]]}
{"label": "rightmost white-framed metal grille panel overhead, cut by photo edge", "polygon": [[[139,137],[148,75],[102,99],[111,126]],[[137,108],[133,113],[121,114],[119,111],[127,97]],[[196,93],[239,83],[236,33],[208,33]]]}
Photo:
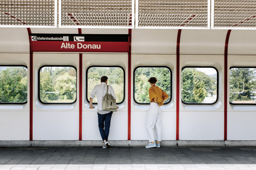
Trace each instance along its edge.
{"label": "rightmost white-framed metal grille panel overhead, cut by photo edge", "polygon": [[256,0],[212,0],[211,20],[212,29],[256,29]]}

